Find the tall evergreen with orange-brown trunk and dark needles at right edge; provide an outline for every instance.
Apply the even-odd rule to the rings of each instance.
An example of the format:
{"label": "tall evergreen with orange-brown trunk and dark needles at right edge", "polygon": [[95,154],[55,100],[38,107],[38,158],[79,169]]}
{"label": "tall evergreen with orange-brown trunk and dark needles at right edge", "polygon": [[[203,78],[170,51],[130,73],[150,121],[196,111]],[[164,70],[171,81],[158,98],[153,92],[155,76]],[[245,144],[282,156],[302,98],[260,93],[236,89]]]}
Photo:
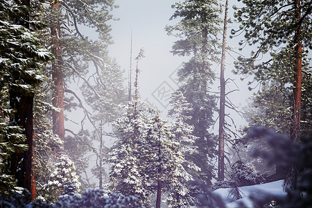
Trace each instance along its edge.
{"label": "tall evergreen with orange-brown trunk and dark needles at right edge", "polygon": [[[311,118],[302,116],[311,111],[311,101],[302,99],[309,94],[302,91],[302,86],[309,85],[311,81],[311,67],[307,59],[311,49],[311,2],[242,2],[245,6],[236,8],[235,12],[241,26],[232,34],[245,33],[245,39],[240,44],[257,46],[257,50],[252,51],[250,58],[239,57],[236,73],[254,76],[255,82],[268,86],[263,89],[275,87],[281,92],[292,92],[293,98],[291,102],[286,102],[288,105],[285,108],[292,109],[287,116],[292,120],[290,135],[293,141],[298,140],[302,134],[302,123],[311,123]],[[306,120],[302,121],[303,118]]]}

